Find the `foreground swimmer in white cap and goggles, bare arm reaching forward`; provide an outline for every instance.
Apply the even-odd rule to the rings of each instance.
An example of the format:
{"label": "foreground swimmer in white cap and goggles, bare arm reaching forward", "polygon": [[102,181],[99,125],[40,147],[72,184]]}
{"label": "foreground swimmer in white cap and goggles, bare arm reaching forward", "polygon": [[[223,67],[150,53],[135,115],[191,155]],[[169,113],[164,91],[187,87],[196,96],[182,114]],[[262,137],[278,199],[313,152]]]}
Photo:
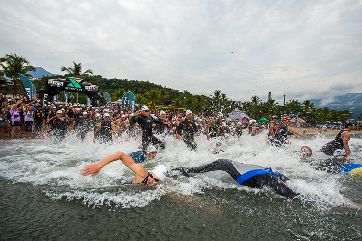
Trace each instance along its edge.
{"label": "foreground swimmer in white cap and goggles, bare arm reaching forward", "polygon": [[126,165],[126,167],[130,168],[132,171],[135,172],[135,176],[132,180],[132,184],[148,184],[152,185],[157,182],[161,182],[165,180],[167,177],[167,168],[164,165],[158,165],[151,172],[148,172],[142,165],[135,163],[132,158],[127,156],[125,153],[121,151],[117,151],[113,153],[112,155],[108,156],[106,159],[87,165],[83,169],[80,170],[80,175],[87,176],[87,175],[97,175],[102,167],[107,165],[110,162],[114,162],[117,160],[121,160],[123,164]]}

